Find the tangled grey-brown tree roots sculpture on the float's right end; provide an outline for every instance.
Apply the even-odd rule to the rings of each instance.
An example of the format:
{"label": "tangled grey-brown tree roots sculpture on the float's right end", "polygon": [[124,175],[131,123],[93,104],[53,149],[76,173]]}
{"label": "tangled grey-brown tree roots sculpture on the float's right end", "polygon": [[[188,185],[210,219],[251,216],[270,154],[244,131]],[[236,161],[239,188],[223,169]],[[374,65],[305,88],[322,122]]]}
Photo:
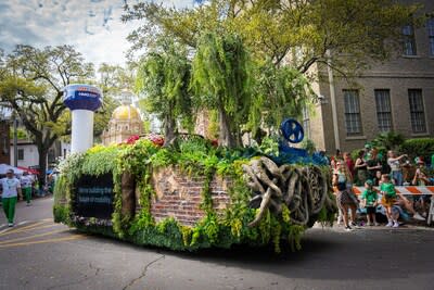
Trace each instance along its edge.
{"label": "tangled grey-brown tree roots sculpture on the float's right end", "polygon": [[318,166],[278,166],[272,160],[261,156],[243,165],[247,186],[254,196],[250,206],[259,209],[250,227],[257,226],[266,210],[273,214],[282,212],[285,204],[291,212],[291,222],[307,225],[323,206],[334,211],[335,204],[329,197],[329,176]]}

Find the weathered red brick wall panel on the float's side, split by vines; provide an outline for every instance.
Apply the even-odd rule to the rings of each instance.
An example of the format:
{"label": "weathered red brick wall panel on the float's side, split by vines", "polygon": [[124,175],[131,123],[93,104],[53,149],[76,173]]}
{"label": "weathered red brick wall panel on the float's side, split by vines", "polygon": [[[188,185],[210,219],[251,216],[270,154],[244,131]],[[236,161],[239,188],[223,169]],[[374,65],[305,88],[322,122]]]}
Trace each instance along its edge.
{"label": "weathered red brick wall panel on the float's side, split by vines", "polygon": [[[155,222],[171,216],[181,225],[192,226],[204,217],[205,212],[200,209],[204,181],[204,177],[190,177],[174,168],[154,172],[152,186],[156,194],[151,201],[151,214]],[[229,179],[220,177],[214,177],[210,182],[213,209],[217,214],[222,214],[230,203],[227,193],[230,186]]]}

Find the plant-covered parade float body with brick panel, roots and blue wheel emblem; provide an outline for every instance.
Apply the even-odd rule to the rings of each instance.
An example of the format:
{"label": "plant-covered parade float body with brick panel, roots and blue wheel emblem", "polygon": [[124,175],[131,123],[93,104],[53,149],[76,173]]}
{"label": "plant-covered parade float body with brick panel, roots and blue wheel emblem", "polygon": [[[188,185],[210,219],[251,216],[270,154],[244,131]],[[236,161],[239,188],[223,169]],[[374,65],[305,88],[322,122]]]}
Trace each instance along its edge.
{"label": "plant-covered parade float body with brick panel, roots and blue wheel emblem", "polygon": [[[82,104],[77,93],[66,90],[65,103]],[[273,153],[229,150],[196,135],[180,135],[165,147],[163,137],[149,135],[73,152],[60,165],[54,220],[180,251],[299,249],[303,232],[332,220],[335,205],[321,156],[289,146],[303,139],[299,124],[286,119],[281,130],[285,140]]]}

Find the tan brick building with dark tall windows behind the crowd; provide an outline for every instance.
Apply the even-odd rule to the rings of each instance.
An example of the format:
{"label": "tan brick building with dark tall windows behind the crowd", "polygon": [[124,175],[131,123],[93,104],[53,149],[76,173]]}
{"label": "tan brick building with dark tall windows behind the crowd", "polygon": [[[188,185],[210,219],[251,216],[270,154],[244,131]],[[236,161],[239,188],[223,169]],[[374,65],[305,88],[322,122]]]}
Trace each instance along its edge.
{"label": "tan brick building with dark tall windows behind the crowd", "polygon": [[[434,11],[434,1],[418,2],[424,2],[425,12]],[[314,84],[321,101],[315,114],[305,114],[304,126],[318,149],[350,151],[385,131],[434,136],[434,16],[418,29],[409,25],[401,31],[401,52],[372,64],[355,79],[357,85],[317,67],[329,81]]]}

